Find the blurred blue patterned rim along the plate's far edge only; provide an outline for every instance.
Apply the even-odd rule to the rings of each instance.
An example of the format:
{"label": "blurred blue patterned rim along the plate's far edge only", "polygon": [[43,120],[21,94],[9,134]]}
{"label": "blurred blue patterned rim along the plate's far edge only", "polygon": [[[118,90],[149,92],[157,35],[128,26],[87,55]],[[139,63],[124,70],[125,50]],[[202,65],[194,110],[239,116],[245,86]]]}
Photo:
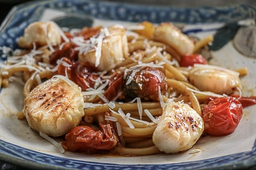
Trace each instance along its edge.
{"label": "blurred blue patterned rim along the plate's far edge only", "polygon": [[175,8],[157,6],[136,6],[124,3],[111,3],[90,0],[51,0],[37,1],[17,6],[13,14],[0,28],[0,46],[17,47],[16,38],[23,34],[29,23],[40,20],[46,8],[64,11],[67,14],[92,16],[99,19],[153,23],[212,23],[233,22],[256,18],[256,10],[250,6]]}

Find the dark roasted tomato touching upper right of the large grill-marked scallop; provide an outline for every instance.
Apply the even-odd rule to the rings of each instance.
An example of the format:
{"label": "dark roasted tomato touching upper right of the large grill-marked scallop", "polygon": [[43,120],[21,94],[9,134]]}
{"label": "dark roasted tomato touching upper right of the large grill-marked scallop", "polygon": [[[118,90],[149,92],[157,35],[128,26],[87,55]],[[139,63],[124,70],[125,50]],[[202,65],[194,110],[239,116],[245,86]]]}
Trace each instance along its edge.
{"label": "dark roasted tomato touching upper right of the large grill-marked scallop", "polygon": [[[98,76],[92,74],[96,68],[90,63],[80,63],[78,61],[71,62],[70,59],[63,58],[62,62],[67,65],[58,66],[58,74],[65,76],[79,85],[82,91],[85,91],[89,87],[93,87]],[[92,81],[93,80],[93,81]]]}

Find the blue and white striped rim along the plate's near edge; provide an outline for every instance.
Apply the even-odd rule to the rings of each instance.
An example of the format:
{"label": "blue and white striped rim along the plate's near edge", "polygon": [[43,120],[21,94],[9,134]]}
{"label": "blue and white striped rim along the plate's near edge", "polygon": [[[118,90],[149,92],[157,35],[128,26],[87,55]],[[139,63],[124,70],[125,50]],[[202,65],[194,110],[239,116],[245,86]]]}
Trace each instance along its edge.
{"label": "blue and white striped rim along the plate's near edge", "polygon": [[242,168],[251,164],[255,164],[256,159],[256,142],[250,152],[237,153],[229,156],[221,156],[214,159],[205,159],[202,161],[183,162],[176,164],[143,164],[143,165],[117,165],[102,164],[89,161],[78,161],[74,159],[66,159],[57,156],[51,156],[39,153],[15,144],[10,144],[0,140],[0,153],[11,156],[15,162],[22,162],[23,165],[29,167],[41,167],[44,169],[64,170],[72,168],[72,170],[195,170],[195,169],[214,169],[227,170],[232,168]]}

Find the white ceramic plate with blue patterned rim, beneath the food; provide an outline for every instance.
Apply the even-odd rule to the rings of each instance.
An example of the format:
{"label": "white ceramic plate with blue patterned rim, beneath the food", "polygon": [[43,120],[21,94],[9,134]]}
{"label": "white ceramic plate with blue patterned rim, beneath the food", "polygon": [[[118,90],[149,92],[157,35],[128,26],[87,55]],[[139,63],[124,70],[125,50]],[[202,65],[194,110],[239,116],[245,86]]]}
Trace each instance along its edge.
{"label": "white ceramic plate with blue patterned rim, beneath the food", "polygon": [[[215,34],[227,22],[256,18],[250,6],[175,8],[135,6],[123,3],[88,0],[35,1],[16,6],[0,27],[0,46],[16,48],[17,37],[34,21],[54,20],[61,27],[111,25],[126,26],[148,20],[153,23],[173,22],[199,38]],[[200,23],[200,24],[199,24]],[[224,36],[225,37],[225,36]],[[225,37],[230,38],[230,37]],[[4,57],[1,55],[4,60]],[[256,59],[243,56],[233,46],[232,38],[212,52],[212,64],[230,69],[247,67],[249,74],[241,77],[243,94],[256,95]],[[183,153],[152,156],[88,156],[79,153],[61,154],[26,121],[16,118],[23,108],[22,86],[10,83],[0,93],[0,159],[32,169],[67,170],[192,170],[245,168],[256,164],[256,106],[244,108],[236,131],[223,137],[202,137]],[[61,139],[56,139],[61,142]],[[193,153],[193,149],[201,150]]]}

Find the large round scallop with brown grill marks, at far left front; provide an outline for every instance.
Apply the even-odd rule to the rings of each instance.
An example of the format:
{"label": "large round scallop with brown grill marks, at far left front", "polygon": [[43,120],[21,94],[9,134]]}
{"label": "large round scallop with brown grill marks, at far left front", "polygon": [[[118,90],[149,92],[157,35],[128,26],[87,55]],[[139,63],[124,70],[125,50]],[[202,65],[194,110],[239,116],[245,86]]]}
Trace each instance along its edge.
{"label": "large round scallop with brown grill marks, at far left front", "polygon": [[25,98],[23,113],[29,126],[48,136],[62,136],[84,115],[81,88],[63,76],[35,87]]}

